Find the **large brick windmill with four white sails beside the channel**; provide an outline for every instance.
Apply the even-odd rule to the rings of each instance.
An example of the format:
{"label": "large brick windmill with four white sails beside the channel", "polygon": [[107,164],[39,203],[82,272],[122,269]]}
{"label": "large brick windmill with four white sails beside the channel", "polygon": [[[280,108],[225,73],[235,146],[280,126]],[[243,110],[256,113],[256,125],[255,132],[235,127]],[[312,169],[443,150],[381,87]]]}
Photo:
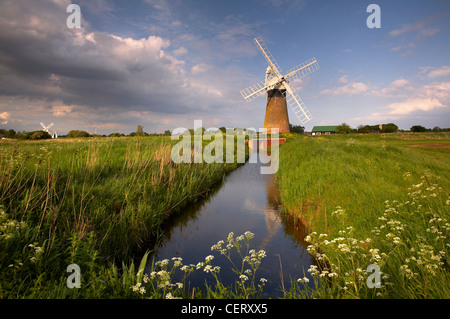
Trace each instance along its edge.
{"label": "large brick windmill with four white sails beside the channel", "polygon": [[[247,102],[267,92],[266,116],[264,128],[270,131],[271,128],[278,128],[280,133],[289,132],[289,117],[287,105],[294,112],[300,123],[305,124],[312,119],[311,114],[306,109],[303,101],[289,85],[288,79],[300,79],[319,69],[319,63],[315,58],[309,59],[288,71],[281,74],[280,67],[270,54],[262,38],[254,38],[253,42],[261,50],[269,66],[266,70],[265,80],[241,91]],[[286,96],[288,97],[286,98]]]}

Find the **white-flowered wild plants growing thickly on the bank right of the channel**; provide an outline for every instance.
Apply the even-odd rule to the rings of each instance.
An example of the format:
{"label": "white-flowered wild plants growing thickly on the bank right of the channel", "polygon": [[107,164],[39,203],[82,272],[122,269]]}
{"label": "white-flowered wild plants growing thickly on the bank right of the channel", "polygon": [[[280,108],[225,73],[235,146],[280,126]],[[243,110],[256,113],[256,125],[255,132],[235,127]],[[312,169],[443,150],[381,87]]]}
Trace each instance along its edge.
{"label": "white-flowered wild plants growing thickly on the bank right of the channel", "polygon": [[[404,177],[408,179],[411,174],[407,172]],[[409,188],[407,200],[386,200],[370,238],[356,238],[355,229],[347,225],[347,213],[336,207],[331,216],[340,221],[336,223],[341,225],[338,236],[330,239],[328,234],[312,232],[305,238],[310,243],[308,252],[316,260],[308,269],[310,275],[329,283],[335,297],[395,296],[398,291],[402,296],[429,293],[426,290],[436,286],[439,278],[448,276],[445,265],[450,248],[450,200],[431,180],[425,173],[420,183]],[[366,285],[371,264],[383,270],[377,289]],[[298,282],[306,284],[309,279],[304,276]],[[393,282],[395,290],[389,289]]]}

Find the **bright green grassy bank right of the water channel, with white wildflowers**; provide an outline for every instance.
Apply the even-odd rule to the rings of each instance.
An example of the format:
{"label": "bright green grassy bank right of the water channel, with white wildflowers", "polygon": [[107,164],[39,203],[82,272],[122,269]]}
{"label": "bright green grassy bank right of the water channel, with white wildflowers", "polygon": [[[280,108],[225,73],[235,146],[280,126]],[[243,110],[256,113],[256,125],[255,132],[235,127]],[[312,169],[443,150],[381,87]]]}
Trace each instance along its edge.
{"label": "bright green grassy bank right of the water channel, with white wildflowers", "polygon": [[[281,200],[310,228],[319,266],[299,274],[288,295],[449,298],[449,144],[448,134],[289,139],[280,149]],[[371,264],[381,270],[379,288],[367,285]],[[303,289],[311,280],[318,288]]]}

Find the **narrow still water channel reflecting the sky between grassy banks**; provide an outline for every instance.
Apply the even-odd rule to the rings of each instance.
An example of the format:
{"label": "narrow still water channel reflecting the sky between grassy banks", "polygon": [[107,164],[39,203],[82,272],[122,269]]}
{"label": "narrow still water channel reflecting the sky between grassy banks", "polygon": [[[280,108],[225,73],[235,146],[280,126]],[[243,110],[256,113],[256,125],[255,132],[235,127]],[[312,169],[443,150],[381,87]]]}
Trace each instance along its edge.
{"label": "narrow still water channel reflecting the sky between grassy banks", "polygon": [[[259,157],[256,152],[250,156]],[[196,264],[213,254],[214,266],[220,266],[225,285],[232,284],[236,275],[231,264],[211,246],[226,241],[230,232],[235,236],[251,231],[255,237],[250,249],[264,249],[266,257],[257,272],[257,280],[268,280],[263,297],[282,296],[281,287],[289,287],[291,279],[303,277],[312,262],[304,238],[305,227],[283,218],[275,175],[263,175],[261,162],[248,161],[231,172],[206,199],[173,218],[159,246],[154,248],[156,260],[182,257],[183,264]],[[282,272],[281,272],[282,269]],[[191,287],[204,287],[210,274],[194,272]],[[213,281],[211,281],[213,283]]]}

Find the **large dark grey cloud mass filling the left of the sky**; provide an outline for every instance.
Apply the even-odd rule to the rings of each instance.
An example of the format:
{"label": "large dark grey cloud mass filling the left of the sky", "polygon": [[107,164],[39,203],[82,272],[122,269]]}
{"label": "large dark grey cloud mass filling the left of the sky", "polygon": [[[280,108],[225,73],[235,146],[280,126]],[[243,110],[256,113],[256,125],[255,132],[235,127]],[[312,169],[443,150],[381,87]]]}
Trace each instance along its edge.
{"label": "large dark grey cloud mass filling the left of the sky", "polygon": [[[165,1],[152,4],[164,9]],[[211,58],[211,52],[215,59],[227,53],[221,49],[228,42],[220,41],[223,47],[214,47],[218,40],[212,44],[204,40],[204,55],[188,55],[190,49],[180,46],[182,43],[177,43],[177,49],[172,48],[173,39],[99,32],[91,30],[84,21],[81,29],[68,29],[66,18],[65,10],[51,2],[5,0],[0,4],[0,113],[10,111],[8,114],[14,119],[20,115],[26,122],[23,129],[39,123],[44,116],[73,126],[93,126],[95,122],[98,127],[102,123],[108,124],[105,127],[119,127],[120,122],[142,120],[132,116],[137,113],[129,113],[133,111],[146,116],[147,122],[157,118],[163,123],[166,116],[174,123],[188,113],[217,111],[227,105],[237,107],[240,101],[230,103],[234,92],[240,98],[243,80],[239,69],[213,69],[214,61],[199,63],[205,57]],[[226,25],[234,22],[230,19]],[[237,43],[251,32],[250,26],[238,23],[221,36]],[[186,35],[184,40],[188,38]],[[194,66],[187,69],[180,56]],[[192,56],[198,60],[192,60]],[[17,103],[8,104],[10,98]],[[6,117],[6,113],[1,114]],[[33,116],[38,119],[32,119]],[[1,121],[6,123],[8,119]]]}

